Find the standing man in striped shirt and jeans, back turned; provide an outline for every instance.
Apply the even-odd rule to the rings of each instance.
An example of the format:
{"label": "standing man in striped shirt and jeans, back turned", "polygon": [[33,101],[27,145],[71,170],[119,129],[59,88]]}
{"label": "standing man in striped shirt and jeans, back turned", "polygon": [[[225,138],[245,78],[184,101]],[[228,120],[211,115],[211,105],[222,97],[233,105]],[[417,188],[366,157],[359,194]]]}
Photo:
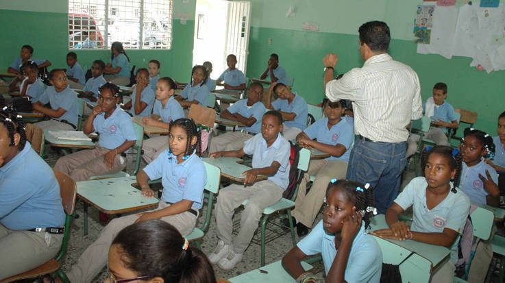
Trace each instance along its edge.
{"label": "standing man in striped shirt and jeans, back turned", "polygon": [[397,62],[387,49],[391,36],[384,22],[364,23],[358,30],[362,68],[332,79],[338,56],[323,59],[326,96],[353,101],[354,143],[347,179],[375,187],[379,213],[393,204],[406,165],[407,125],[421,118],[419,78],[410,66]]}

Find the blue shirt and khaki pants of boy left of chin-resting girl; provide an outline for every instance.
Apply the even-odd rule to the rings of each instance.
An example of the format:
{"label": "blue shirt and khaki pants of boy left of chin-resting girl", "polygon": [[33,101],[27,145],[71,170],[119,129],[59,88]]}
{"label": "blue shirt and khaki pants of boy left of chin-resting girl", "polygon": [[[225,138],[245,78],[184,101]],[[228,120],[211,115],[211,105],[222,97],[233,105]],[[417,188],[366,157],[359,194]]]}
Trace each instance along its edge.
{"label": "blue shirt and khaki pants of boy left of chin-resting girl", "polygon": [[40,103],[51,105],[51,109],[58,110],[58,108],[63,108],[66,112],[59,118],[51,118],[48,121],[42,121],[35,123],[42,130],[75,130],[77,127],[77,121],[79,120],[79,112],[77,110],[77,93],[71,90],[67,86],[61,93],[57,93],[54,86],[49,86],[46,88],[45,92],[42,94]]}

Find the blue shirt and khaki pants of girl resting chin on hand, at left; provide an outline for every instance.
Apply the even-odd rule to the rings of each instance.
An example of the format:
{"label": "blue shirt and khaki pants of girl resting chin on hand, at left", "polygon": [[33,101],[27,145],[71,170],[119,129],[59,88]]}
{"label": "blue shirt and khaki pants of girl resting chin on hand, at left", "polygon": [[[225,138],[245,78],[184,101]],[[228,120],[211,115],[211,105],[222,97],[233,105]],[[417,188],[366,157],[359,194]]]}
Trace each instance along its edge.
{"label": "blue shirt and khaki pants of girl resting chin on hand, at left", "polygon": [[103,161],[103,156],[125,143],[126,140],[137,139],[132,118],[119,107],[116,107],[107,119],[105,113],[95,116],[93,128],[100,134],[97,147],[62,156],[54,165],[55,169],[70,175],[76,182],[89,180],[95,175],[117,173],[125,169],[126,160],[121,153],[116,154],[112,168]]}

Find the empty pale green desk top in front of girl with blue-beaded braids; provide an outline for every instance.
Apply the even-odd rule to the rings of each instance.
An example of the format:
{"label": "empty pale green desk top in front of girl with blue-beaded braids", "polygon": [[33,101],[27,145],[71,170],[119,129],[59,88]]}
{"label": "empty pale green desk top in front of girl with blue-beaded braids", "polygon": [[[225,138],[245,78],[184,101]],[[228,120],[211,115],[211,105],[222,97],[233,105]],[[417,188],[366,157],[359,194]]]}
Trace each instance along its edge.
{"label": "empty pale green desk top in front of girl with blue-beaded braids", "polygon": [[77,182],[77,197],[107,214],[157,208],[158,199],[140,195],[134,182],[135,176]]}

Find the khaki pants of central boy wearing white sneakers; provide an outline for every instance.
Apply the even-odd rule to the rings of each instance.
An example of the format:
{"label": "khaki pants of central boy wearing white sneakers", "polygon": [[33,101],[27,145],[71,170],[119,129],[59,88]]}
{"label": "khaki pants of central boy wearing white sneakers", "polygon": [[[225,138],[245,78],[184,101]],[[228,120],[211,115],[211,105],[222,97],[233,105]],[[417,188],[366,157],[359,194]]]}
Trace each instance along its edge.
{"label": "khaki pants of central boy wearing white sneakers", "polygon": [[[244,187],[241,184],[231,184],[219,190],[216,204],[217,236],[225,244],[232,244],[237,254],[243,254],[254,232],[258,228],[264,208],[275,204],[282,198],[284,190],[274,182],[264,180]],[[241,218],[241,230],[232,241],[232,217],[235,208],[249,199]]]}

